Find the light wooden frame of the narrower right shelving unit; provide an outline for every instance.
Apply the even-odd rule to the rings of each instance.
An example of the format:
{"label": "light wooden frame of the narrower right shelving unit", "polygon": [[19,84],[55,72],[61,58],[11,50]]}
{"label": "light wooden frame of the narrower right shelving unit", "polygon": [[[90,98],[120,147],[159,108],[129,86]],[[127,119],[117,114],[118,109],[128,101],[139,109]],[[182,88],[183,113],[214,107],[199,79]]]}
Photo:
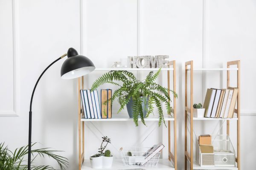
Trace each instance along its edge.
{"label": "light wooden frame of the narrower right shelving unit", "polygon": [[[188,68],[190,65],[190,68]],[[230,68],[231,65],[236,65],[236,68]],[[188,97],[188,71],[190,71],[190,102],[187,102]],[[240,170],[240,60],[227,62],[227,68],[199,68],[193,69],[193,61],[185,62],[185,170],[187,170],[187,161],[190,162],[190,170],[193,170],[193,71],[227,71],[227,87],[230,86],[230,71],[237,71],[237,88],[238,88],[238,96],[236,102],[236,109],[234,113],[236,113],[236,118],[233,119],[219,119],[219,120],[227,120],[227,135],[230,134],[230,120],[237,121],[237,150],[236,150],[236,163],[237,169]],[[190,114],[190,115],[189,115]],[[187,150],[187,119],[190,119],[190,153]],[[214,118],[213,118],[214,119]],[[200,119],[206,120],[206,119]],[[220,167],[216,167],[219,169]],[[224,167],[223,167],[224,168]],[[206,168],[207,169],[207,168]],[[211,167],[210,169],[214,169]],[[224,168],[225,169],[225,168]]]}

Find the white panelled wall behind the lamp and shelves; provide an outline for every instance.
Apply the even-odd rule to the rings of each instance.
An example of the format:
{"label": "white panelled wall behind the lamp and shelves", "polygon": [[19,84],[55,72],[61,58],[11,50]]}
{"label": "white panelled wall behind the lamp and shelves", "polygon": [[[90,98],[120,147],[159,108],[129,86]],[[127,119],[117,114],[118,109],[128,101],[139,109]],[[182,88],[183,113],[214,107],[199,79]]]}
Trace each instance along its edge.
{"label": "white panelled wall behind the lamp and shelves", "polygon": [[[34,83],[69,47],[92,59],[96,67],[111,67],[127,56],[169,55],[177,63],[177,154],[178,169],[183,170],[185,61],[194,60],[198,68],[222,67],[226,61],[241,59],[241,169],[253,169],[256,150],[249,146],[256,140],[251,133],[256,121],[255,17],[253,0],[0,0],[0,114],[7,115],[0,117],[0,142],[11,148],[27,144]],[[64,150],[69,170],[77,170],[77,82],[60,79],[62,62],[53,65],[38,84],[32,141]],[[102,73],[87,75],[86,88]],[[143,79],[146,73],[134,74]],[[222,72],[194,75],[194,102],[203,102],[206,88],[226,85]],[[165,76],[161,74],[158,81],[166,84]],[[115,103],[113,110],[117,108]],[[212,133],[216,123],[197,122],[195,131]],[[236,145],[236,125],[231,126]],[[167,146],[167,129],[155,122],[149,122],[148,127],[135,127],[133,122],[96,122],[85,128],[86,159],[96,153],[102,135],[112,139],[109,149],[116,159],[119,147],[157,142]],[[167,158],[167,150],[162,157]],[[54,164],[48,159],[42,163]]]}

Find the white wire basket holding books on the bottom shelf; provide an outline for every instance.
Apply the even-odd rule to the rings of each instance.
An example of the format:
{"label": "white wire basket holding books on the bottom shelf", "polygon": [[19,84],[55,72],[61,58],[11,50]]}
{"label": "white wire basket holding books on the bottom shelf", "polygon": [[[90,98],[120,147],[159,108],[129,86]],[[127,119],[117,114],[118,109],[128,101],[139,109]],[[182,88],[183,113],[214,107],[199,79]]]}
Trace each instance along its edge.
{"label": "white wire basket holding books on the bottom shelf", "polygon": [[160,152],[150,152],[151,147],[130,147],[120,150],[125,166],[156,167]]}

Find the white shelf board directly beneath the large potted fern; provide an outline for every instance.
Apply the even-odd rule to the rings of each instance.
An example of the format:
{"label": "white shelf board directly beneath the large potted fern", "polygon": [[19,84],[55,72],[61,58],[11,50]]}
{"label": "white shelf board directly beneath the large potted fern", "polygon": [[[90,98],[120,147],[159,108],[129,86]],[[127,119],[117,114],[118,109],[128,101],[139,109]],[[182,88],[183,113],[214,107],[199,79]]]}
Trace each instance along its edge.
{"label": "white shelf board directly beneath the large potted fern", "polygon": [[[173,121],[174,118],[171,116],[167,115],[167,113],[164,113],[164,120],[165,121]],[[155,114],[155,116],[149,116],[148,118],[145,118],[145,121],[158,121],[158,114]],[[84,119],[81,118],[81,121],[84,122],[99,122],[99,121],[133,121],[133,118],[129,118],[128,113],[118,113],[118,114],[113,114],[111,119]],[[139,119],[141,121],[141,119]]]}

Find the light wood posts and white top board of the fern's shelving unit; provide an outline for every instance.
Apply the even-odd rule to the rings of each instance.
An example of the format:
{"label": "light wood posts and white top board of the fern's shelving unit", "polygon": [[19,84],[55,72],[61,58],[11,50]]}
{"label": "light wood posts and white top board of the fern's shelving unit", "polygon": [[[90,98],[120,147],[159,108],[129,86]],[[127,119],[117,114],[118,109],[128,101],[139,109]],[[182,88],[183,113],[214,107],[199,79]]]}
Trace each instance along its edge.
{"label": "light wood posts and white top board of the fern's shelving unit", "polygon": [[[176,64],[175,60],[169,61],[167,64],[169,68],[162,68],[161,71],[167,71],[167,80],[168,80],[168,89],[170,90],[171,82],[170,82],[170,71],[173,72],[173,83],[172,88],[173,91],[176,91]],[[111,71],[111,70],[127,70],[127,71],[157,71],[159,68],[96,68],[95,71]],[[82,168],[82,164],[84,163],[84,121],[81,119],[81,97],[80,97],[80,89],[84,89],[84,76],[78,78],[78,132],[79,132],[79,170]],[[168,92],[170,94],[170,91]],[[177,170],[177,112],[176,112],[176,98],[173,97],[173,120],[168,120],[168,159],[173,162],[174,168],[170,167],[170,169]],[[130,121],[130,120],[125,120]],[[171,151],[171,122],[173,122],[173,136],[174,136],[174,152]],[[82,127],[81,127],[82,126]],[[125,168],[125,166],[124,166]]]}

